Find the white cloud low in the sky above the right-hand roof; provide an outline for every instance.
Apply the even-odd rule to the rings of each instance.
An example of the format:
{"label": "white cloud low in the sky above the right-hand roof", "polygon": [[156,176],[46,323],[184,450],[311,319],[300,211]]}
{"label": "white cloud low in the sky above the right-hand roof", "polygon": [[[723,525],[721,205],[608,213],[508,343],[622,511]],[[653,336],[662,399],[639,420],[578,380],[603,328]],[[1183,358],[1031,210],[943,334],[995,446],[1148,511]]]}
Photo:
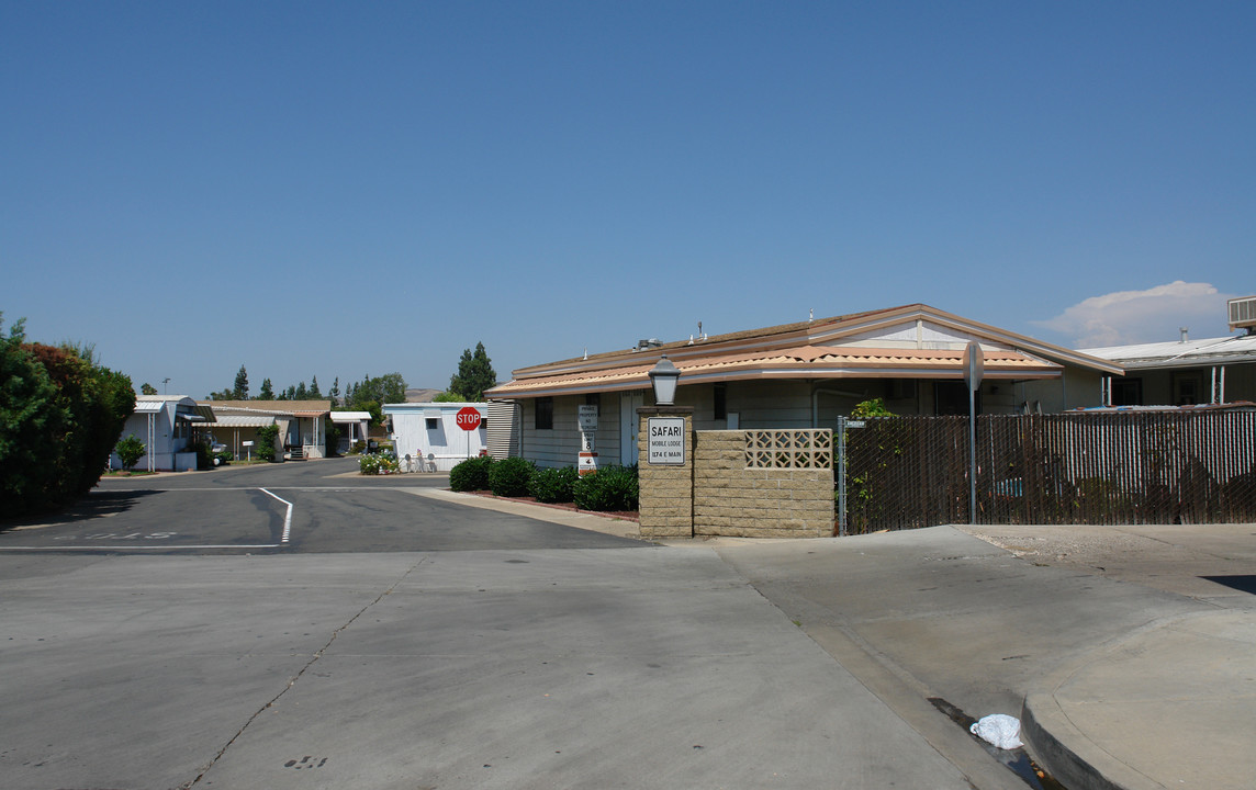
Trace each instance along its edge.
{"label": "white cloud low in the sky above the right-hand roof", "polygon": [[1178,328],[1191,337],[1226,334],[1226,300],[1208,283],[1177,280],[1142,291],[1091,296],[1045,322],[1030,322],[1068,337],[1074,348],[1177,340]]}

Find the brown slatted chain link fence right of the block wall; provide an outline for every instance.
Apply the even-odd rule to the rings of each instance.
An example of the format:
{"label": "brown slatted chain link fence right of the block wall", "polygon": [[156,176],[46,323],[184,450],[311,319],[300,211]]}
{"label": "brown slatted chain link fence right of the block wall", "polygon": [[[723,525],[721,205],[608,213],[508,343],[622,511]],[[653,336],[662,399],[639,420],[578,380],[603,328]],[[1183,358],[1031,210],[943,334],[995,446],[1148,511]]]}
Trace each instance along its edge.
{"label": "brown slatted chain link fence right of the block wall", "polygon": [[1256,521],[1256,412],[978,417],[975,517],[967,417],[842,421],[838,431],[843,534]]}

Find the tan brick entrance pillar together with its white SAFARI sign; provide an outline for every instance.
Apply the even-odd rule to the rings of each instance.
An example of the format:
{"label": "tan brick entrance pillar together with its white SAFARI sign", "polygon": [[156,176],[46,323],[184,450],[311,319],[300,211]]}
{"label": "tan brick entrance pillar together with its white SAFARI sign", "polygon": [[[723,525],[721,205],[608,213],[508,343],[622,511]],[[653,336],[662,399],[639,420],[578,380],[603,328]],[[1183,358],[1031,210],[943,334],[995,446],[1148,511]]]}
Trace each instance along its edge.
{"label": "tan brick entrance pillar together with its white SAFARI sign", "polygon": [[646,406],[637,419],[641,535],[692,538],[693,407]]}

